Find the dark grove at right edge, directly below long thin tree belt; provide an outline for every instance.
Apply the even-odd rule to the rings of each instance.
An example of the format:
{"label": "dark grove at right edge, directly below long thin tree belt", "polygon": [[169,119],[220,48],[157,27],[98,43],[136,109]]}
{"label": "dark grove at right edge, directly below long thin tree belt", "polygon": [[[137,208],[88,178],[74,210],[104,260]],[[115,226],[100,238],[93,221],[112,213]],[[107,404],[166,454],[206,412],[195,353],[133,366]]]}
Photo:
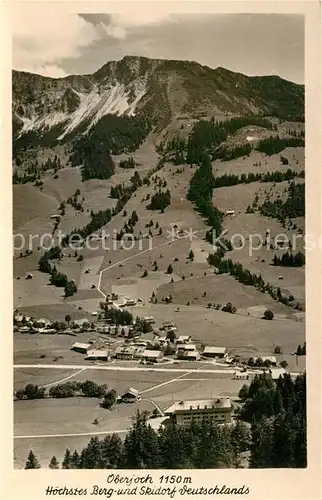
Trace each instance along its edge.
{"label": "dark grove at right edge, directly below long thin tree belt", "polygon": [[259,207],[259,211],[266,217],[274,217],[281,223],[286,219],[305,216],[305,183],[291,182],[288,188],[288,197],[285,201],[281,198],[266,200]]}

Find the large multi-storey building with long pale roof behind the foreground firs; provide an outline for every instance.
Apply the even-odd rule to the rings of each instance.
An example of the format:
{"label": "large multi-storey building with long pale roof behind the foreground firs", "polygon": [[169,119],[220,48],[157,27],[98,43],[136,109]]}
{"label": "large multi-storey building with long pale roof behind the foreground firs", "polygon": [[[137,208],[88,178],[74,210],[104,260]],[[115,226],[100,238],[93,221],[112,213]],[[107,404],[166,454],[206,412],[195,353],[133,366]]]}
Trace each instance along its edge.
{"label": "large multi-storey building with long pale roof behind the foreground firs", "polygon": [[180,401],[165,410],[179,426],[189,426],[192,420],[227,424],[231,422],[232,404],[229,398]]}

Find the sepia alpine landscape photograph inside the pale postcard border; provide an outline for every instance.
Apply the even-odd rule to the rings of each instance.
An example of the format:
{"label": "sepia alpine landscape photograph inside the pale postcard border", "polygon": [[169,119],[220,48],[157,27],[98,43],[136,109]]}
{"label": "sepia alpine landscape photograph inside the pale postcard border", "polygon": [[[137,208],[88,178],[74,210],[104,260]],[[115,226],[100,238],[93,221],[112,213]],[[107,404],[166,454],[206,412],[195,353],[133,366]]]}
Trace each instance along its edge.
{"label": "sepia alpine landscape photograph inside the pale postcard border", "polygon": [[14,469],[307,467],[304,21],[14,11]]}

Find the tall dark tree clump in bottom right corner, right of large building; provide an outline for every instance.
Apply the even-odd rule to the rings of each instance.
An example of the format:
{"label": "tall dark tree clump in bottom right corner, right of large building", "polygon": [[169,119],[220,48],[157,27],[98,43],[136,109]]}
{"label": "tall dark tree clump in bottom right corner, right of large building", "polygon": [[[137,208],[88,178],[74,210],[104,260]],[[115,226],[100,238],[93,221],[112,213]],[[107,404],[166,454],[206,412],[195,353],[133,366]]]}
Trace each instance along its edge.
{"label": "tall dark tree clump in bottom right corner, right of large building", "polygon": [[276,383],[256,375],[245,392],[240,418],[252,424],[250,467],[306,467],[306,375],[284,374]]}

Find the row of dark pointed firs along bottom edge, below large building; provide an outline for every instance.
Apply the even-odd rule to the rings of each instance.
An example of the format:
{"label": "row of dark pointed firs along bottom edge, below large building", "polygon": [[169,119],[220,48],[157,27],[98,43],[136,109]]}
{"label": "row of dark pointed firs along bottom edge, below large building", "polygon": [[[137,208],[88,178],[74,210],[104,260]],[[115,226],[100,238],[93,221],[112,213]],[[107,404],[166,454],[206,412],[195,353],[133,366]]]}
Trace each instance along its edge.
{"label": "row of dark pointed firs along bottom edge, below large building", "polygon": [[171,424],[155,431],[148,423],[147,413],[137,412],[124,441],[117,434],[103,440],[93,437],[80,452],[67,449],[62,468],[231,468],[239,466],[240,453],[249,447],[249,442],[250,434],[242,422],[232,428],[207,422],[193,422],[187,428]]}

